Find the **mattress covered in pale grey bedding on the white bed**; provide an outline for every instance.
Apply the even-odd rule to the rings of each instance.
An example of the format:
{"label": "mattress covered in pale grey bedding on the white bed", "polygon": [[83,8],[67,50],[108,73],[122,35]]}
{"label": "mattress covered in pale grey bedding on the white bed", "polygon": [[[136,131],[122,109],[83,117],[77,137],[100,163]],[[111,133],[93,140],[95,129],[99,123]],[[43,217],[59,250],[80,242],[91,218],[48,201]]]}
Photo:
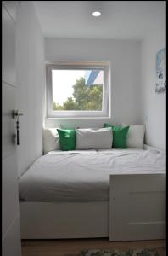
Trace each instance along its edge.
{"label": "mattress covered in pale grey bedding on the white bed", "polygon": [[20,201],[109,201],[109,175],[165,173],[155,149],[52,151],[20,177]]}

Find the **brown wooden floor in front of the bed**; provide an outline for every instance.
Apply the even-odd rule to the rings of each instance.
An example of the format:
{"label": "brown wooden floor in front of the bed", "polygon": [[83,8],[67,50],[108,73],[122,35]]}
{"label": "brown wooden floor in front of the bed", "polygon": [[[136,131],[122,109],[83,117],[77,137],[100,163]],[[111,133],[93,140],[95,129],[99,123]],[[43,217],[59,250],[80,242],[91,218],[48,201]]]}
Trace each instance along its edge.
{"label": "brown wooden floor in front of the bed", "polygon": [[[165,240],[109,242],[108,238],[69,240],[23,240],[22,256],[77,256],[83,249],[156,248],[165,256]],[[163,249],[164,247],[164,249]]]}

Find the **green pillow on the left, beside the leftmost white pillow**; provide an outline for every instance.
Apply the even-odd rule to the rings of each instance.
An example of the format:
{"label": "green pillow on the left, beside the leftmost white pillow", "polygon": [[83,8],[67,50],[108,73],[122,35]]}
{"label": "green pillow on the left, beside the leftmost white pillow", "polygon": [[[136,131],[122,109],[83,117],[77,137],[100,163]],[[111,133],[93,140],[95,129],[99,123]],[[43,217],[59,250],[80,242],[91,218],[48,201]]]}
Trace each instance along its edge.
{"label": "green pillow on the left, beside the leftmost white pillow", "polygon": [[60,148],[63,151],[76,149],[76,130],[75,129],[57,129],[59,133]]}

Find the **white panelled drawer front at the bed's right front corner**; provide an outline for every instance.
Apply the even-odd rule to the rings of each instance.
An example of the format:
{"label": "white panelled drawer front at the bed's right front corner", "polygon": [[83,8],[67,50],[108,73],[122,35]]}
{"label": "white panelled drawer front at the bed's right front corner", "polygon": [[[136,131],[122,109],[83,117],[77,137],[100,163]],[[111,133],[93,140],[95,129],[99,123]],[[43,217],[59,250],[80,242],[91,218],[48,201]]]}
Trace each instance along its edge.
{"label": "white panelled drawer front at the bed's right front corner", "polygon": [[165,174],[111,175],[109,241],[165,239]]}

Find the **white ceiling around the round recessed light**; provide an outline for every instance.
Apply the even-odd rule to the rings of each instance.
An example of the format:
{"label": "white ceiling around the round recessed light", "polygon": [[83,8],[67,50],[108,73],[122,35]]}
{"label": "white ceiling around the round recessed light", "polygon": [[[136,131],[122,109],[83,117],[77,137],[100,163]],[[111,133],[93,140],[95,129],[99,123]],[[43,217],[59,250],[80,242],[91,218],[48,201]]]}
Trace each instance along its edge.
{"label": "white ceiling around the round recessed light", "polygon": [[[33,1],[44,37],[141,40],[165,26],[165,1]],[[100,10],[100,17],[92,11]]]}

